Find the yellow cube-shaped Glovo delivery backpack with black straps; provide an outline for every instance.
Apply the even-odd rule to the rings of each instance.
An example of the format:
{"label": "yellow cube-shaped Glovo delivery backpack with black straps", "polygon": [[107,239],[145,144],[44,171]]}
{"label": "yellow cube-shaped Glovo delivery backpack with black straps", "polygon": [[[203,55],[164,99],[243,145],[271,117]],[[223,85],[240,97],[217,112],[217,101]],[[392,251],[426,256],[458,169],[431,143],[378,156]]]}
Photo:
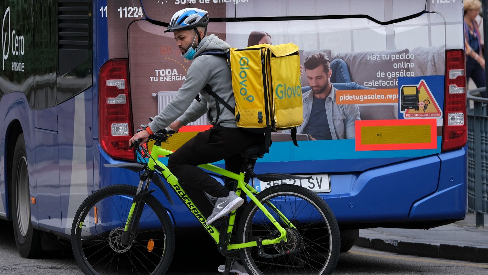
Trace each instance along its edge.
{"label": "yellow cube-shaped Glovo delivery backpack with black straps", "polygon": [[[272,131],[293,129],[292,139],[298,146],[296,127],[303,122],[298,46],[292,43],[260,44],[231,48],[230,52],[205,51],[201,55],[224,53],[232,71],[235,108],[216,95],[209,85],[203,90],[236,115],[237,126],[266,133],[266,152]],[[217,114],[219,112],[217,106]]]}

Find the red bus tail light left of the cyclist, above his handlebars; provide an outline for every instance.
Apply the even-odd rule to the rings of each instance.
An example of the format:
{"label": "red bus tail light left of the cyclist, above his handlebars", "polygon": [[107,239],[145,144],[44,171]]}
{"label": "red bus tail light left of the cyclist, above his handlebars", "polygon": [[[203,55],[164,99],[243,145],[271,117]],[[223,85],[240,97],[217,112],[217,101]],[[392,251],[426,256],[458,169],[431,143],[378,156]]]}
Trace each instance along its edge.
{"label": "red bus tail light left of the cyclist, above his handlebars", "polygon": [[129,148],[133,135],[126,59],[109,60],[99,75],[99,141],[114,159],[135,160]]}

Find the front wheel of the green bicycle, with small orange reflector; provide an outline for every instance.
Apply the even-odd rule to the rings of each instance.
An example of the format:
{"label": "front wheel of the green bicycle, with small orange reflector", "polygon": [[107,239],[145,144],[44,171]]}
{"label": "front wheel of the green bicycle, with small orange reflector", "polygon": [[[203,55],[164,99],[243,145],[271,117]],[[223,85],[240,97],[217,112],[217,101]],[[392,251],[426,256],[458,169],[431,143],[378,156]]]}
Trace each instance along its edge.
{"label": "front wheel of the green bicycle, with small orange reflector", "polygon": [[137,188],[110,185],[88,196],[71,228],[73,254],[84,274],[164,274],[171,263],[175,235],[168,213],[147,194],[130,241],[121,244]]}

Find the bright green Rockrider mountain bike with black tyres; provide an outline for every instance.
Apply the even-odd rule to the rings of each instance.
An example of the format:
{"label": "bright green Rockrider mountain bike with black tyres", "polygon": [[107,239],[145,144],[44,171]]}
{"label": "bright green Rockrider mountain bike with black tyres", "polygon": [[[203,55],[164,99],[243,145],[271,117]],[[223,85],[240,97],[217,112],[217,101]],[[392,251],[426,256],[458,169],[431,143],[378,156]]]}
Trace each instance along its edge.
{"label": "bright green Rockrider mountain bike with black tyres", "polygon": [[[166,183],[215,240],[226,256],[224,274],[231,261],[241,259],[248,274],[331,274],[339,258],[340,233],[334,214],[316,193],[292,184],[275,185],[258,192],[248,179],[276,181],[308,179],[288,174],[256,175],[252,167],[258,146],[246,148],[239,174],[212,164],[199,167],[237,181],[235,192],[250,199],[233,234],[236,210],[207,225],[206,217],[193,204],[178,179],[158,160],[173,152],[161,148],[173,131],[149,137],[151,152],[136,140],[142,163],[106,164],[140,173],[137,187],[109,185],[88,196],[78,209],[71,229],[73,253],[85,274],[164,274],[173,258],[174,226],[167,210],[151,194],[154,183],[174,204]],[[148,140],[148,141],[149,141]],[[166,183],[165,183],[166,182]],[[234,236],[235,235],[235,236]],[[195,249],[198,249],[195,247]],[[191,250],[191,248],[190,248]]]}

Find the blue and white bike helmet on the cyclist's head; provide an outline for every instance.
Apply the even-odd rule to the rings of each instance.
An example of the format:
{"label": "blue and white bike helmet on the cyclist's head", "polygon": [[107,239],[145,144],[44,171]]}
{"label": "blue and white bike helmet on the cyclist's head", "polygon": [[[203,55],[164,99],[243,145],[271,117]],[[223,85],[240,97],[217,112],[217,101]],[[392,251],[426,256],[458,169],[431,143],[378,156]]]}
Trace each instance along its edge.
{"label": "blue and white bike helmet on the cyclist's head", "polygon": [[208,24],[208,12],[197,8],[185,8],[176,12],[164,32],[194,29]]}

